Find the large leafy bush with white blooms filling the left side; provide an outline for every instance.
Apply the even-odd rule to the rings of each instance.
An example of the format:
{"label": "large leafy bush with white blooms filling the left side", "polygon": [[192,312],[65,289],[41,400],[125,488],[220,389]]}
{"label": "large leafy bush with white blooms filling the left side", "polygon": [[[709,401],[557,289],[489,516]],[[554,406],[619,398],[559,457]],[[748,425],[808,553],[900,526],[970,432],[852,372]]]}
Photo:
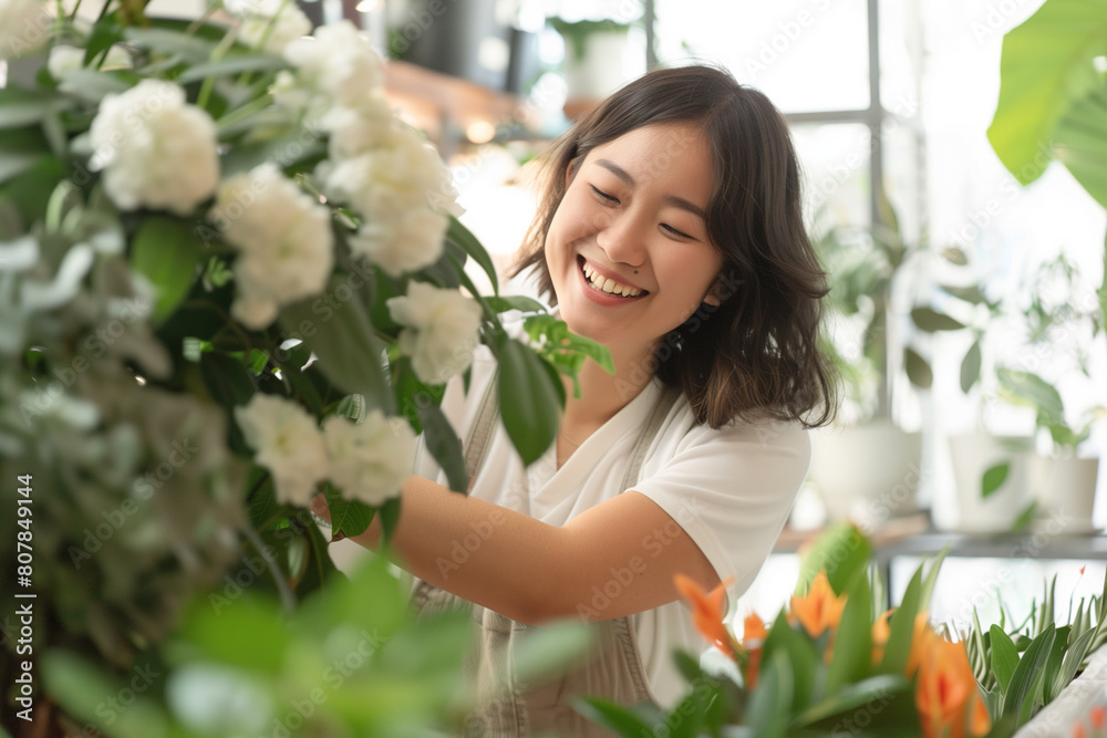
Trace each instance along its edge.
{"label": "large leafy bush with white blooms filling the left side", "polygon": [[0,1],[0,56],[32,80],[0,90],[0,471],[19,480],[0,505],[20,510],[0,561],[24,568],[0,592],[35,595],[31,643],[4,621],[17,735],[23,709],[64,717],[53,654],[125,677],[164,662],[194,597],[296,612],[338,576],[308,500],[387,536],[416,433],[464,491],[438,401],[478,342],[527,462],[557,432],[558,373],[604,360],[558,321],[509,336],[499,313],[536,303],[472,289],[466,261],[495,289],[492,262],[352,24],[144,9]]}

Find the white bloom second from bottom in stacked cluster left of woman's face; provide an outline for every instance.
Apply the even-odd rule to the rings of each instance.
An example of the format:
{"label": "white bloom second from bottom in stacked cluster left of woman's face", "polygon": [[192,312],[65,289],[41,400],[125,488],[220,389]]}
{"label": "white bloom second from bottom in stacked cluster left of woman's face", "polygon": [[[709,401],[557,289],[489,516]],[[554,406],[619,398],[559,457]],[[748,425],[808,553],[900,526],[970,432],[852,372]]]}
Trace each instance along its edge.
{"label": "white bloom second from bottom in stacked cluster left of woman's face", "polygon": [[394,127],[386,142],[361,156],[327,163],[317,175],[327,196],[349,202],[369,220],[400,210],[448,206],[457,197],[449,169],[417,133]]}

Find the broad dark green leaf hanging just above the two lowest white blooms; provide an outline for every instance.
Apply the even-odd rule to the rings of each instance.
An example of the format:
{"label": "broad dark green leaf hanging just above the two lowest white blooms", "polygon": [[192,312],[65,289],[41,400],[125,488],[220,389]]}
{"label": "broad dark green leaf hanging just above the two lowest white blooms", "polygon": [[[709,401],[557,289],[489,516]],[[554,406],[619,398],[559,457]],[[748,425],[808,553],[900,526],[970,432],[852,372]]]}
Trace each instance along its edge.
{"label": "broad dark green leaf hanging just above the two lowest white blooms", "polygon": [[[328,289],[342,279],[332,276]],[[319,357],[317,364],[333,385],[345,394],[364,395],[370,407],[392,415],[395,401],[384,375],[385,346],[376,337],[365,308],[346,300],[337,308],[317,312],[318,298],[286,305],[278,318],[281,329],[303,336],[303,343]]]}

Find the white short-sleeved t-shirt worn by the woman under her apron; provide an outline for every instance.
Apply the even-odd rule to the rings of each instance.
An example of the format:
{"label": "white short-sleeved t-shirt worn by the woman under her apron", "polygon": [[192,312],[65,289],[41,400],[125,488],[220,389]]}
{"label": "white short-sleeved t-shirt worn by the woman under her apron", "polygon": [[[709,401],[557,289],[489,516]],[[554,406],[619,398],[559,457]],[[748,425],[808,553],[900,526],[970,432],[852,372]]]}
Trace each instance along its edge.
{"label": "white short-sleeved t-shirt worn by the woman under her apron", "polygon": [[[461,438],[467,437],[495,373],[495,358],[480,346],[468,394],[458,377],[448,384],[442,408]],[[563,526],[623,491],[619,486],[631,449],[661,392],[661,383],[654,380],[584,439],[560,469],[556,468],[552,446],[525,468],[503,424],[497,423],[470,496]],[[641,570],[652,558],[664,555],[665,545],[677,532],[675,526],[680,526],[711,561],[720,580],[734,578],[728,590],[733,603],[753,582],[773,548],[809,461],[810,441],[798,423],[732,424],[713,430],[695,425],[692,408],[681,396],[632,487],[661,506],[673,522],[644,536],[641,560],[628,560],[625,568]],[[422,441],[414,472],[447,484]],[[602,620],[606,601],[618,596],[628,573],[612,572],[593,589],[591,601],[581,603],[588,609],[582,614]],[[673,707],[689,688],[674,665],[673,648],[701,653],[704,640],[681,601],[633,615],[631,623],[652,697],[662,707]]]}

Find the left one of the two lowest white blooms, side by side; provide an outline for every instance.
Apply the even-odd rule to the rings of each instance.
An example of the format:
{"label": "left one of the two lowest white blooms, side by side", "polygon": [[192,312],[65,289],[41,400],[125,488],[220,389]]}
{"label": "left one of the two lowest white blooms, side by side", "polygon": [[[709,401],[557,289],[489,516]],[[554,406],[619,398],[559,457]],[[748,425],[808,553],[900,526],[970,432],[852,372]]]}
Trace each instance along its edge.
{"label": "left one of the two lowest white blooms, side by side", "polygon": [[235,408],[235,419],[254,460],[269,469],[278,502],[307,506],[315,485],[328,476],[327,449],[315,419],[296,403],[275,395],[254,395]]}

